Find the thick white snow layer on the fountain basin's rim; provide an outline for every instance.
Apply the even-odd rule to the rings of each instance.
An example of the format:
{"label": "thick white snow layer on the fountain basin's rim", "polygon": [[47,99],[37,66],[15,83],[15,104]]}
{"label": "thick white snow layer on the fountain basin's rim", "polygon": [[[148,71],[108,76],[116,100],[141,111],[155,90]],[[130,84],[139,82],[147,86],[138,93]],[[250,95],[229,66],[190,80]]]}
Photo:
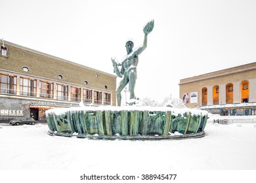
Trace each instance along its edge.
{"label": "thick white snow layer on the fountain basin's rim", "polygon": [[171,114],[178,116],[179,114],[183,115],[185,113],[191,113],[192,115],[202,115],[207,116],[208,112],[206,110],[196,109],[196,108],[173,108],[173,107],[150,107],[150,106],[122,106],[122,107],[114,107],[114,106],[100,106],[100,107],[89,107],[89,106],[83,106],[83,107],[70,107],[70,108],[51,108],[47,111],[45,111],[46,116],[48,116],[49,113],[53,113],[55,115],[61,115],[65,114],[65,112],[71,111],[121,111],[121,110],[127,110],[127,111],[150,111],[150,112],[167,112],[170,111]]}

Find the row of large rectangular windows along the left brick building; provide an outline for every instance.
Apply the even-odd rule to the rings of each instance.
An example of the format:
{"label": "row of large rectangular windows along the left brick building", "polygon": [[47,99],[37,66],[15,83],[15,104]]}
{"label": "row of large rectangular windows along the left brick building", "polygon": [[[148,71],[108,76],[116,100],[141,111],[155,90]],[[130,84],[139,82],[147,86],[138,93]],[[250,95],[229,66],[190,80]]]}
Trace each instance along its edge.
{"label": "row of large rectangular windows along the left brick building", "polygon": [[[39,82],[39,95],[37,95],[37,82]],[[0,93],[8,93],[13,95],[19,94],[32,97],[39,96],[64,101],[81,101],[81,94],[83,94],[83,102],[85,103],[102,104],[103,102],[104,105],[111,104],[111,93],[86,88],[77,88],[75,86],[68,86],[64,84],[56,84],[56,88],[54,88],[53,82],[33,80],[24,77],[20,77],[20,90],[17,91],[17,77],[12,75],[3,75],[1,73]]]}

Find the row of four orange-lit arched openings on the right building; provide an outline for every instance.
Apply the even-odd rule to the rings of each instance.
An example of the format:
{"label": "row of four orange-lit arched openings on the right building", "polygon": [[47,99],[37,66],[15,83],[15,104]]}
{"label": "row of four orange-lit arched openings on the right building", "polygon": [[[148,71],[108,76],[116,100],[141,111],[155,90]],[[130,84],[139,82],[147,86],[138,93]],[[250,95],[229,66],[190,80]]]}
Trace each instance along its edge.
{"label": "row of four orange-lit arched openings on the right building", "polygon": [[[249,101],[249,82],[243,81],[240,86],[241,103]],[[226,104],[233,103],[233,84],[226,84]],[[207,88],[202,88],[202,105],[207,105]],[[213,105],[219,105],[219,86],[213,86]]]}

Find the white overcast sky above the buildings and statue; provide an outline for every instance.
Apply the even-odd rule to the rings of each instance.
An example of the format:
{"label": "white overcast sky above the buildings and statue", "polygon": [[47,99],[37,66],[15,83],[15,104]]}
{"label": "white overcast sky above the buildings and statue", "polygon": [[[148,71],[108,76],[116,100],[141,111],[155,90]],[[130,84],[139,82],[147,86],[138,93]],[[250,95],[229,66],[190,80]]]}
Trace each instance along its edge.
{"label": "white overcast sky above the buildings and statue", "polygon": [[[139,56],[135,95],[179,97],[179,80],[256,61],[255,0],[1,0],[0,38],[114,74],[125,41]],[[119,80],[117,80],[117,83]]]}

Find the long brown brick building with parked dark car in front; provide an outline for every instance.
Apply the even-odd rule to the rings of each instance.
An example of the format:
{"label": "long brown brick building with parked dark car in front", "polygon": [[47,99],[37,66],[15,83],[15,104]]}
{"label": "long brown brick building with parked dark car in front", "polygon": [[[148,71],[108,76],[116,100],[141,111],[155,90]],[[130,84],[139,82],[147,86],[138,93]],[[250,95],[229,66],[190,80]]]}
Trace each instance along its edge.
{"label": "long brown brick building with parked dark car in front", "polygon": [[49,108],[116,105],[116,76],[11,42],[0,49],[0,122]]}

